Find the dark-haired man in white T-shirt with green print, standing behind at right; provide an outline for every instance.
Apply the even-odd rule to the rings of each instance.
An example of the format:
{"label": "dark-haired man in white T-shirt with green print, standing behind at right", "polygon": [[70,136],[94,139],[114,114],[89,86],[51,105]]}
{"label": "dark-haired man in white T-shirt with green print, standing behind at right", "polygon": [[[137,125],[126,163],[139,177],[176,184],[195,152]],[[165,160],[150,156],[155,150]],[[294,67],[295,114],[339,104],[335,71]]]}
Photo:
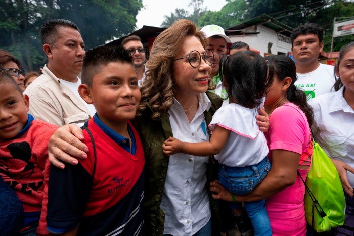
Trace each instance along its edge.
{"label": "dark-haired man in white T-shirt with green print, standing behind at right", "polygon": [[316,24],[304,24],[294,29],[290,38],[298,77],[296,87],[306,93],[307,100],[333,92],[334,67],[318,62],[323,50],[323,29]]}

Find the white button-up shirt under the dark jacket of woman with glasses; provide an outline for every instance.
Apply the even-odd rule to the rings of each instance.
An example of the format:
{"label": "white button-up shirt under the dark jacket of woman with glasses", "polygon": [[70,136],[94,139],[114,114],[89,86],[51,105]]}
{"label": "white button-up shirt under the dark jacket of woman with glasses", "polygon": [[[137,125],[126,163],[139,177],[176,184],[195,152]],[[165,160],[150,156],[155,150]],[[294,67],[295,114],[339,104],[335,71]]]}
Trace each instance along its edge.
{"label": "white button-up shirt under the dark jacket of woman with glasses", "polygon": [[[191,123],[182,106],[173,98],[169,120],[173,137],[181,141],[199,143],[208,141],[204,111],[211,102],[203,93],[199,108]],[[210,219],[210,204],[206,182],[209,157],[178,153],[169,157],[161,209],[165,212],[164,234],[193,235]]]}

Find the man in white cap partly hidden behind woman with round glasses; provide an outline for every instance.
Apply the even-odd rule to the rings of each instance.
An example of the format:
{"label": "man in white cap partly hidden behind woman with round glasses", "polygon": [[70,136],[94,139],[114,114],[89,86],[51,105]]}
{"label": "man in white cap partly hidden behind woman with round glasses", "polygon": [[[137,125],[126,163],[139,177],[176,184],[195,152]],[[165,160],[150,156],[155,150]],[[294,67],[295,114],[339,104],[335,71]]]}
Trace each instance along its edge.
{"label": "man in white cap partly hidden behind woman with round glasses", "polygon": [[[219,76],[219,61],[220,58],[226,54],[226,44],[231,42],[231,39],[225,35],[224,29],[218,25],[206,25],[200,31],[202,31],[208,39],[206,49],[212,50],[214,53],[214,61],[210,74],[214,86],[211,87],[215,87],[216,85],[213,91],[223,99],[227,99],[228,96],[225,87]],[[225,102],[229,103],[228,99],[225,100]]]}

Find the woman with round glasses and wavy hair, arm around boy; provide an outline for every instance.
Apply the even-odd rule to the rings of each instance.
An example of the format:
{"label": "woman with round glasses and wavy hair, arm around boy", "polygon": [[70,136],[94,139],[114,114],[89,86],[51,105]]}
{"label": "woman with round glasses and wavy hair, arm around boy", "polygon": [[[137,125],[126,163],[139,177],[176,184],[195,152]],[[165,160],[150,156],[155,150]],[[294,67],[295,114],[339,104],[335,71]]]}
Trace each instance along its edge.
{"label": "woman with round glasses and wavy hair, arm around boy", "polygon": [[[213,54],[205,46],[205,36],[194,23],[179,20],[156,37],[147,62],[135,120],[145,152],[145,235],[210,236],[221,231],[220,216],[226,215],[220,214],[223,203],[212,199],[209,192],[218,165],[205,157],[168,157],[162,150],[169,136],[195,143],[209,140],[207,125],[223,100],[207,91]],[[258,122],[268,127],[268,117]],[[63,164],[56,158],[73,163],[76,160],[68,154],[81,157],[84,152],[80,150],[87,148],[78,139],[74,141],[77,148],[66,143],[73,138],[69,131],[79,137],[79,128],[64,126],[49,144],[50,161],[57,167]],[[61,150],[64,143],[68,154]]]}

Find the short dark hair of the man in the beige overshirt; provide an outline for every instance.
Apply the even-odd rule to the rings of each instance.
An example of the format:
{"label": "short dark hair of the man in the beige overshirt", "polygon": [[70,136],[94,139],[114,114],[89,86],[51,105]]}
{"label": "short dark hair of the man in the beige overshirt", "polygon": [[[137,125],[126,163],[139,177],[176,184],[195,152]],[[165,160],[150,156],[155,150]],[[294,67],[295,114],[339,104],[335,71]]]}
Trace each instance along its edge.
{"label": "short dark hair of the man in the beige overshirt", "polygon": [[78,32],[80,32],[77,25],[69,20],[64,20],[64,19],[48,20],[45,23],[43,23],[42,26],[40,27],[40,41],[42,42],[42,45],[49,44],[54,46],[56,41],[59,38],[58,29],[60,27],[69,27],[69,28],[76,29]]}

